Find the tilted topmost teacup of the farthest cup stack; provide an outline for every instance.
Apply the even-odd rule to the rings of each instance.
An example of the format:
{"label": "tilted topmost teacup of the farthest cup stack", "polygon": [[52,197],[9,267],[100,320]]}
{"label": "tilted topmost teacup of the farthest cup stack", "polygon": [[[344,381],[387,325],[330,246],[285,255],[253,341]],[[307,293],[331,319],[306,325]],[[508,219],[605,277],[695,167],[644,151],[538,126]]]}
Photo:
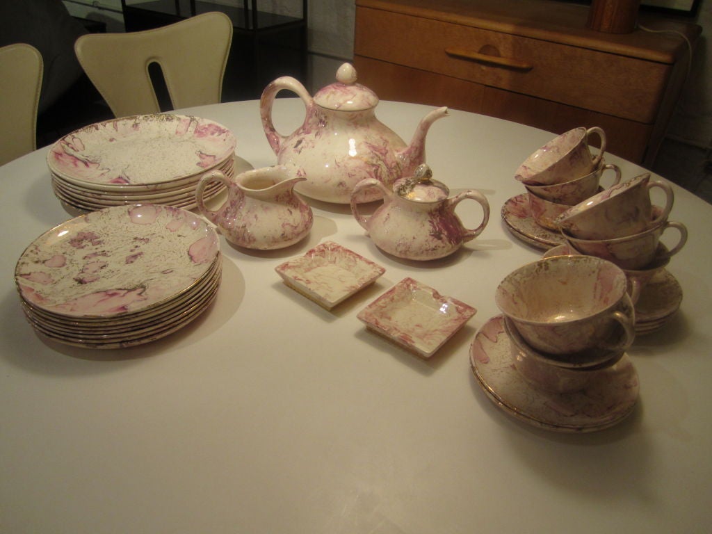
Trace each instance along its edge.
{"label": "tilted topmost teacup of the farthest cup stack", "polygon": [[[592,155],[589,137],[598,135],[600,150]],[[591,174],[606,151],[606,134],[600,127],[577,127],[562,133],[530,155],[515,172],[515,179],[529,185],[570,182]]]}

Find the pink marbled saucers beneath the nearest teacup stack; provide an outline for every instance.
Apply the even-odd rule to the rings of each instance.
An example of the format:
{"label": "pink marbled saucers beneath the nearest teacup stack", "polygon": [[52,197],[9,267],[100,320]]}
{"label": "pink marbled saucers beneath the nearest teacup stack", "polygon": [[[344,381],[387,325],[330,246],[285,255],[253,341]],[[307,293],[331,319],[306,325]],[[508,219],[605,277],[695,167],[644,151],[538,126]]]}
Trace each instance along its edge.
{"label": "pink marbled saucers beneath the nearest teacup stack", "polygon": [[515,369],[512,343],[502,315],[478,330],[470,364],[488,398],[513,417],[558,432],[607,429],[631,414],[639,393],[638,375],[628,355],[596,376],[579,392],[557,393],[530,385]]}

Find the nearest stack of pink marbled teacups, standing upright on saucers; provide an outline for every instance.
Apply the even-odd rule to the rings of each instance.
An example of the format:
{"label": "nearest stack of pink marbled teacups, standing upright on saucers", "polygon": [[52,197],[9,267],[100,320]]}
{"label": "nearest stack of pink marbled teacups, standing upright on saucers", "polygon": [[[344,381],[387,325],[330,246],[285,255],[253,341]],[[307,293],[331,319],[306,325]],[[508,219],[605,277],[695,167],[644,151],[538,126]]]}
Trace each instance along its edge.
{"label": "nearest stack of pink marbled teacups, standing upright on saucers", "polygon": [[495,300],[513,365],[541,389],[584,389],[600,376],[597,371],[616,364],[635,338],[626,275],[595,256],[529,263],[503,279]]}

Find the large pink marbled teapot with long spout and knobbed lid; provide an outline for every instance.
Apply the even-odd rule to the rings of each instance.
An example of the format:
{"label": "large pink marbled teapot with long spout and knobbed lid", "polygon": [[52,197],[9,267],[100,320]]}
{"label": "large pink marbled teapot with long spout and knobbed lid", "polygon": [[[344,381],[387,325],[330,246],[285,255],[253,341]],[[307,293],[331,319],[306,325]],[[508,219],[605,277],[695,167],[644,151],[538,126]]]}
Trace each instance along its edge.
{"label": "large pink marbled teapot with long spout and knobbed lid", "polygon": [[[447,108],[429,112],[406,145],[376,118],[378,97],[356,79],[355,68],[344,63],[337,70],[337,81],[314,98],[290,76],[277,78],[262,93],[262,126],[278,164],[305,171],[307,180],[296,189],[312,199],[349,204],[353,188],[365,178],[391,187],[398,177],[412,174],[424,163],[426,133],[435,120],[448,115]],[[288,136],[277,132],[272,120],[274,100],[283,89],[296,93],[306,110],[303,124]],[[359,201],[380,198],[379,190],[372,188],[363,191]]]}

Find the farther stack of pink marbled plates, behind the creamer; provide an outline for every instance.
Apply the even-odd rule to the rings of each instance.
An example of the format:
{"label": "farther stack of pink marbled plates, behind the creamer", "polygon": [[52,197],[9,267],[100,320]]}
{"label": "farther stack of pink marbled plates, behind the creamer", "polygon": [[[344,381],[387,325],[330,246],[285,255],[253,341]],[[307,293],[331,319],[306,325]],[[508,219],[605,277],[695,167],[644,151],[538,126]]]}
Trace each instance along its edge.
{"label": "farther stack of pink marbled plates, behind the creamer", "polygon": [[[56,197],[76,209],[122,204],[196,206],[201,176],[234,173],[235,136],[226,127],[186,115],[135,115],[89,125],[48,152]],[[204,199],[224,188],[213,182]]]}

